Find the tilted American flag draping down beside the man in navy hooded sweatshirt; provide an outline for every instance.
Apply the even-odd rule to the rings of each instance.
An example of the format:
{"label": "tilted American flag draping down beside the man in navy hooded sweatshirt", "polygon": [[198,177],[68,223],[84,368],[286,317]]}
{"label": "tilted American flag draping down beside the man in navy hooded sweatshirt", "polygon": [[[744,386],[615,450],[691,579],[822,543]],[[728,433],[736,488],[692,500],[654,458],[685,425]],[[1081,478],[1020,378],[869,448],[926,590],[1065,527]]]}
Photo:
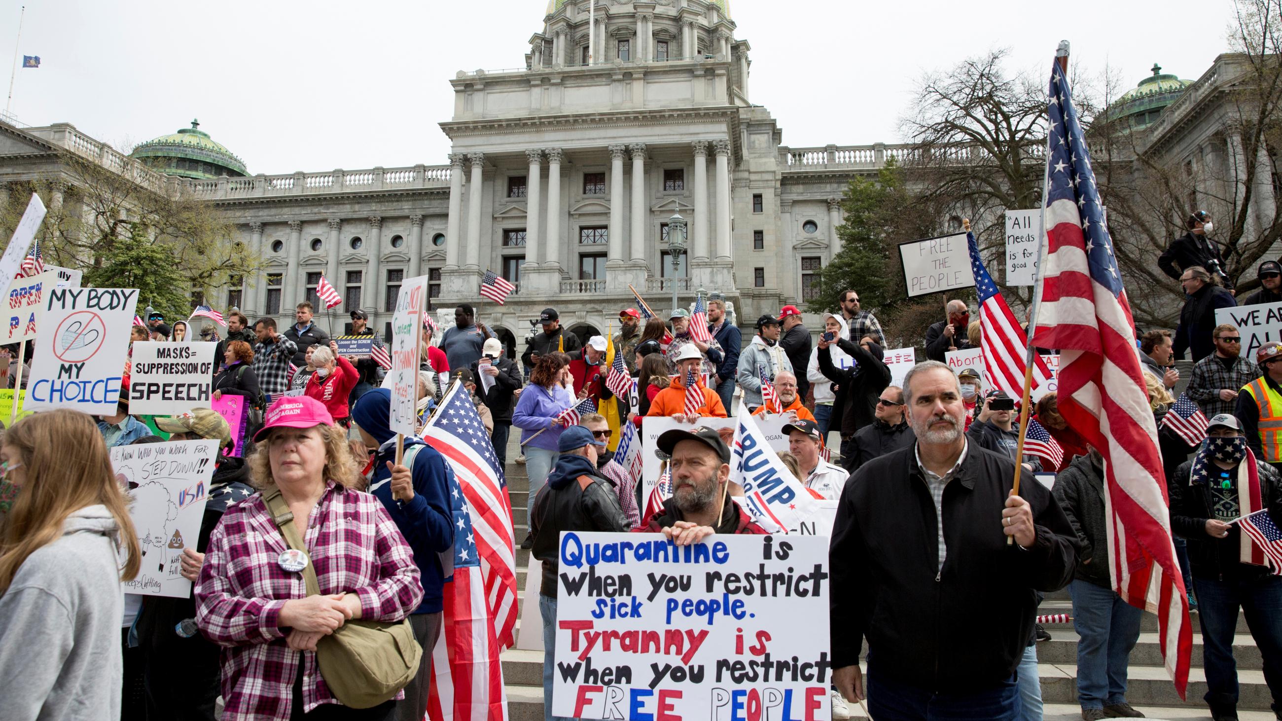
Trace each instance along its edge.
{"label": "tilted American flag draping down beside the man in navy hooded sweatshirt", "polygon": [[[423,440],[450,462],[468,503],[488,617],[501,648],[517,627],[517,554],[512,499],[503,464],[463,384],[453,384],[423,428]],[[449,625],[449,620],[446,620]]]}

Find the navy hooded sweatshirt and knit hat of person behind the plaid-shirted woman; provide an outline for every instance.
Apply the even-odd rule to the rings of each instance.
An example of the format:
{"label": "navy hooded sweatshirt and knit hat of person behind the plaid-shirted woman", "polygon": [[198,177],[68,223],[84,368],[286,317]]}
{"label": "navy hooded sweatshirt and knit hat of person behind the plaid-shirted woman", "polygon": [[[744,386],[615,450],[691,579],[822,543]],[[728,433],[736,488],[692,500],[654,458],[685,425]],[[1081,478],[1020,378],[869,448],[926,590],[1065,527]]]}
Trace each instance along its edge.
{"label": "navy hooded sweatshirt and knit hat of person behind the plaid-shirted woman", "polygon": [[414,452],[414,467],[410,470],[414,498],[408,502],[392,499],[392,473],[387,470],[388,461],[396,462],[396,434],[388,426],[391,398],[391,391],[382,387],[362,395],[351,409],[351,420],[382,444],[374,455],[369,493],[383,503],[387,514],[414,552],[414,564],[418,566],[423,584],[423,603],[414,613],[436,613],[441,611],[441,588],[445,582],[440,554],[454,548],[450,467],[436,449],[419,439],[406,437],[405,453],[412,446],[422,446]]}

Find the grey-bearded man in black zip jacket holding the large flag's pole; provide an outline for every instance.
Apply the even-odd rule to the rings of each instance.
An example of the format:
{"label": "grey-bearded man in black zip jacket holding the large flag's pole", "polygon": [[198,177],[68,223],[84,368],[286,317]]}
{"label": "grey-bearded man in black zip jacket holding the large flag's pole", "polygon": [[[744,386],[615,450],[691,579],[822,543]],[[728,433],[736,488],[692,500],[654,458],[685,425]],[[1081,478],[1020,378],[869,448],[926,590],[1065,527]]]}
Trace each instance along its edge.
{"label": "grey-bearded man in black zip jacket holding the large flag's pole", "polygon": [[917,444],[859,468],[837,507],[833,681],[849,700],[868,698],[873,718],[924,720],[929,706],[940,717],[1014,721],[1035,591],[1072,579],[1073,527],[1032,473],[1009,495],[1011,461],[967,443],[947,366],[914,366],[904,396]]}

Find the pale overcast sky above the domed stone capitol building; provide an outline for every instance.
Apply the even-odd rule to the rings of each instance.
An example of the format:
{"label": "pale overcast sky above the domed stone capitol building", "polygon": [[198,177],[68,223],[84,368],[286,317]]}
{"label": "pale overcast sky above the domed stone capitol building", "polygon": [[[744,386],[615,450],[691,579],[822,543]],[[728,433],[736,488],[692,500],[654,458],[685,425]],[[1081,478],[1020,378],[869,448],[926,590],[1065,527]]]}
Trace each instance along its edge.
{"label": "pale overcast sky above the domed stone capitol building", "polygon": [[[896,142],[910,89],[990,49],[1011,69],[1050,67],[1060,40],[1079,69],[1115,68],[1133,87],[1154,62],[1197,80],[1219,53],[1227,0],[731,0],[753,50],[750,94],[783,144]],[[0,58],[12,59],[21,0],[0,0]],[[449,78],[524,65],[546,0],[359,3],[26,0],[12,114],[68,122],[117,146],[187,127],[251,173],[444,164]],[[1058,10],[1056,10],[1058,9]]]}

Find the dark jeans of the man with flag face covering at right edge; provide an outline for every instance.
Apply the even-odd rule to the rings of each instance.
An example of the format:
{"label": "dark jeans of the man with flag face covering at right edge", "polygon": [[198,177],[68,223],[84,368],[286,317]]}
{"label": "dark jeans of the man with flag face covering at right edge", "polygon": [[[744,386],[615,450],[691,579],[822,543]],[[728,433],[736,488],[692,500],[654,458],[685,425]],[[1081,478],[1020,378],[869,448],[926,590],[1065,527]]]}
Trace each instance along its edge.
{"label": "dark jeans of the man with flag face covering at right edge", "polygon": [[1237,708],[1233,631],[1241,608],[1264,657],[1264,683],[1273,694],[1273,711],[1282,709],[1282,577],[1263,573],[1231,581],[1194,577],[1194,589],[1203,629],[1206,704],[1215,712]]}

